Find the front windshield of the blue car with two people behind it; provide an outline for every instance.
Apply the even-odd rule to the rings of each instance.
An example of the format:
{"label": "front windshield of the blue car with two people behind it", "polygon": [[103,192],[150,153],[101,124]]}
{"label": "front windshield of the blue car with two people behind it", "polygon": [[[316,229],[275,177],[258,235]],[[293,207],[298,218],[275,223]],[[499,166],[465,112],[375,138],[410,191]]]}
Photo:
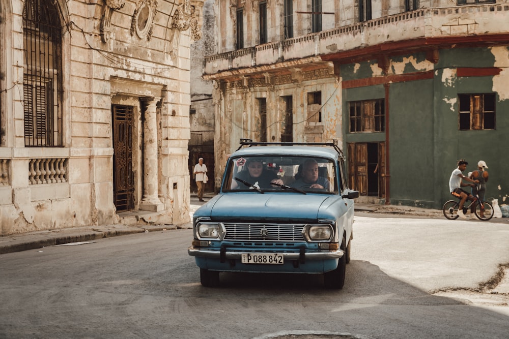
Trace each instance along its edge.
{"label": "front windshield of the blue car with two people behind it", "polygon": [[332,160],[318,157],[232,158],[222,191],[337,193],[335,170]]}

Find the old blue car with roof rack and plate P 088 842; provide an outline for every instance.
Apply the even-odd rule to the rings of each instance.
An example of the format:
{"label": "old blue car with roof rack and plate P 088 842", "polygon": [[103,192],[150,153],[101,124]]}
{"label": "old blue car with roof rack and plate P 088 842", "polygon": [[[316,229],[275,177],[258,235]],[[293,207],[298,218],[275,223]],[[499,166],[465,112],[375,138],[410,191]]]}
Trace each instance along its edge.
{"label": "old blue car with roof rack and plate P 088 842", "polygon": [[358,196],[335,143],[241,139],[219,194],[194,212],[188,254],[207,287],[219,272],[278,272],[324,274],[342,289]]}

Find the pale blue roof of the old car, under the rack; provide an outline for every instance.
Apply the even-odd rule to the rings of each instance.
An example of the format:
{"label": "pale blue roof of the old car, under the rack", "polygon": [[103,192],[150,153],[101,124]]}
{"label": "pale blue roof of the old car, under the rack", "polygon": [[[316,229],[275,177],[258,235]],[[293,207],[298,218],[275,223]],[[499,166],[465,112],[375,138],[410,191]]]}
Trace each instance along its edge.
{"label": "pale blue roof of the old car, under the rack", "polygon": [[241,148],[231,157],[245,156],[310,156],[330,158],[334,161],[340,157],[333,147],[319,146],[250,146]]}

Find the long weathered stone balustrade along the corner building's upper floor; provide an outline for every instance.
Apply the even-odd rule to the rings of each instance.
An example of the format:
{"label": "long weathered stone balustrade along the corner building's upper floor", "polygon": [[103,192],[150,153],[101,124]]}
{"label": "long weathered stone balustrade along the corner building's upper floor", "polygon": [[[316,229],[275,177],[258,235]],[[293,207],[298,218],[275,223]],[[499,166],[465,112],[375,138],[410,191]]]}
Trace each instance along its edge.
{"label": "long weathered stone balustrade along the corner building's upper floor", "polygon": [[228,75],[233,70],[238,70],[241,75],[247,72],[244,69],[251,67],[258,67],[263,72],[267,65],[281,60],[316,57],[387,41],[477,35],[485,32],[502,34],[509,31],[506,27],[509,23],[505,20],[507,11],[509,4],[489,4],[419,9],[389,15],[284,41],[206,56],[204,78],[210,80],[214,74],[225,72],[224,75]]}

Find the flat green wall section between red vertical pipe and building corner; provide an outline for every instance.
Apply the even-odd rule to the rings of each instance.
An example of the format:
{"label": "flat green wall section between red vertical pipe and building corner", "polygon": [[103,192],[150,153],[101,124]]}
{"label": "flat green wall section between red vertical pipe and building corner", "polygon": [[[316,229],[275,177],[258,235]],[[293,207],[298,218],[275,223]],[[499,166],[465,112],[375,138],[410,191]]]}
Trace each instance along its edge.
{"label": "flat green wall section between red vertical pipe and building corner", "polygon": [[433,204],[433,81],[389,87],[391,204]]}

